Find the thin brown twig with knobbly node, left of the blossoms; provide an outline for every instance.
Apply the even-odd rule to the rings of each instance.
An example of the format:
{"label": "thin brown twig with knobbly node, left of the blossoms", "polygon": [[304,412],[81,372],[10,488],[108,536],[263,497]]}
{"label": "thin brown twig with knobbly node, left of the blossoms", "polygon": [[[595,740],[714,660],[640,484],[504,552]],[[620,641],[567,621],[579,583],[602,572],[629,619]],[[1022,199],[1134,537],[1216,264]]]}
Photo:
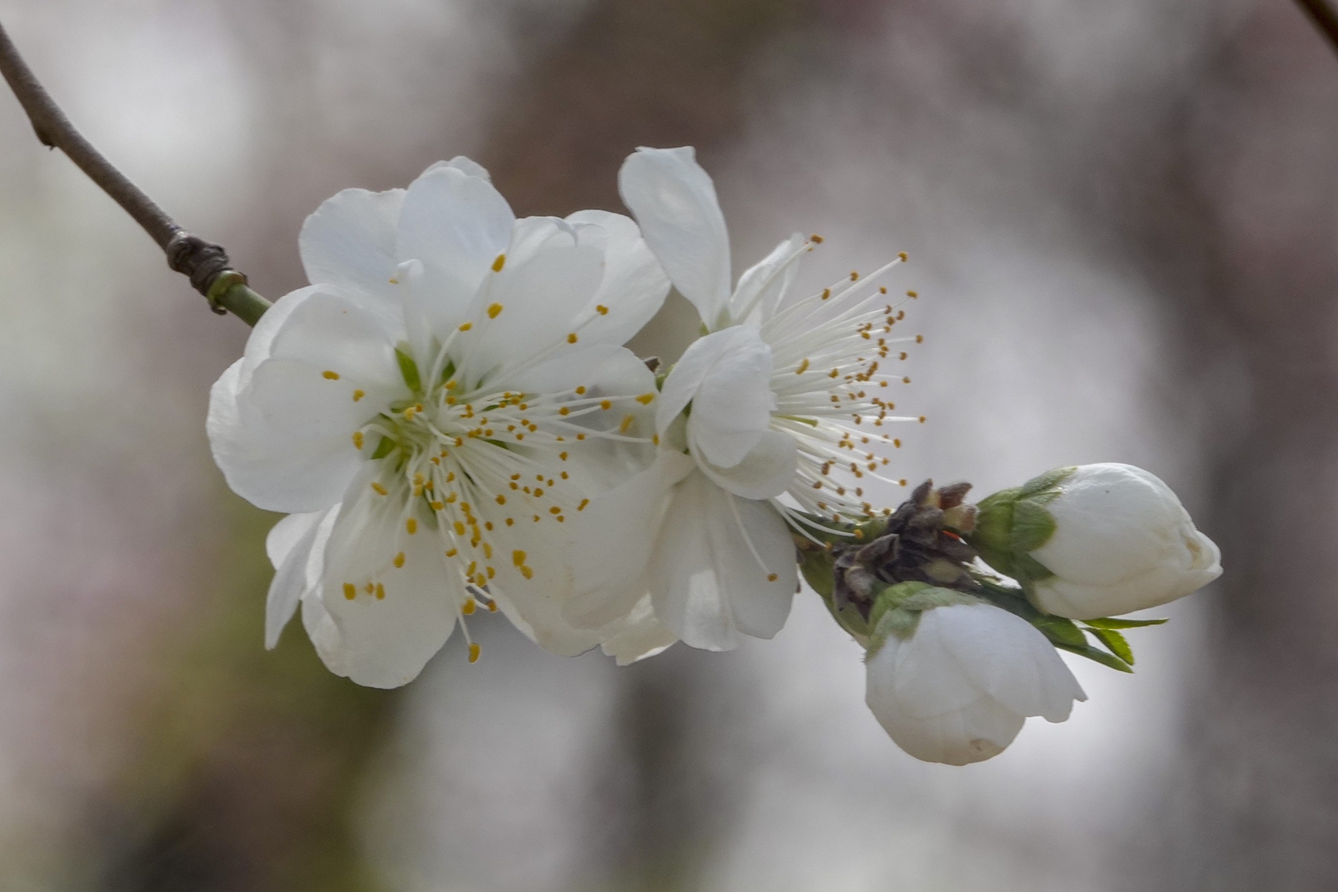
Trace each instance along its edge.
{"label": "thin brown twig with knobbly node, left of the blossoms", "polygon": [[178,226],[75,130],[19,55],[4,25],[0,25],[0,74],[28,114],[43,146],[66,152],[79,170],[120,205],[163,250],[167,266],[189,277],[195,290],[209,298],[210,309],[218,314],[230,310],[248,325],[256,325],[269,309],[269,301],[246,286],[246,277],[231,269],[227,253],[219,245],[211,245]]}

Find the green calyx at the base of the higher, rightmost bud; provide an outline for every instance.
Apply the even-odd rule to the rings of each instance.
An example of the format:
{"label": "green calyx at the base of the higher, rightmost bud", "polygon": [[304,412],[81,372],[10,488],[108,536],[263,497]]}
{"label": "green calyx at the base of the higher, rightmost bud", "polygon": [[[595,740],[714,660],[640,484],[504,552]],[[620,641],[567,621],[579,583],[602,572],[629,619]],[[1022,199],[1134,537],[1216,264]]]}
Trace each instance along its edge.
{"label": "green calyx at the base of the higher, rightmost bud", "polygon": [[1054,575],[1032,552],[1054,535],[1054,516],[1045,506],[1060,495],[1060,484],[1074,471],[1074,467],[1046,471],[1021,487],[982,499],[977,504],[975,530],[967,536],[981,559],[1024,587]]}

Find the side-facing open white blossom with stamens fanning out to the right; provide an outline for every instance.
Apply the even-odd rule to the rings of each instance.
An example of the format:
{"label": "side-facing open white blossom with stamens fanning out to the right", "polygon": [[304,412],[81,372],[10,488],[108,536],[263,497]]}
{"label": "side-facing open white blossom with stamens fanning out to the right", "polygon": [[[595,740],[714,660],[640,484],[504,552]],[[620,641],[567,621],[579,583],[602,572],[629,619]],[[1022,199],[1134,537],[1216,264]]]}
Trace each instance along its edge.
{"label": "side-facing open white blossom with stamens fanning out to the right", "polygon": [[[656,464],[579,519],[567,617],[598,626],[650,591],[658,619],[709,650],[771,638],[797,586],[792,531],[807,511],[866,519],[864,487],[894,441],[890,385],[904,316],[878,278],[788,300],[820,239],[793,234],[731,286],[729,237],[692,148],[641,148],[619,187],[646,243],[708,333],[664,381]],[[799,511],[796,511],[796,508]]]}

